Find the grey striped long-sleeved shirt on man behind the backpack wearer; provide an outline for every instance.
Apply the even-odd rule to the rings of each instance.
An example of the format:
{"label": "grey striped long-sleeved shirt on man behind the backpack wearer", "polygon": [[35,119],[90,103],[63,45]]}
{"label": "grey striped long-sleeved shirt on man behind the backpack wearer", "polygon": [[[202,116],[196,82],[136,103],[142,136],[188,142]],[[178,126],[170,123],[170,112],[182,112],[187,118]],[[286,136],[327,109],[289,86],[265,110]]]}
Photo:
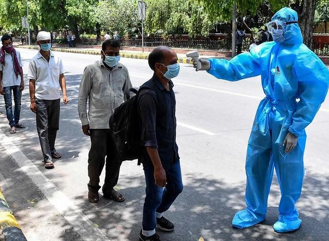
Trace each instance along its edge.
{"label": "grey striped long-sleeved shirt on man behind the backpack wearer", "polygon": [[132,84],[128,70],[121,63],[113,67],[112,71],[102,61],[87,66],[79,89],[78,112],[82,126],[109,129],[109,117],[126,100],[130,88]]}

